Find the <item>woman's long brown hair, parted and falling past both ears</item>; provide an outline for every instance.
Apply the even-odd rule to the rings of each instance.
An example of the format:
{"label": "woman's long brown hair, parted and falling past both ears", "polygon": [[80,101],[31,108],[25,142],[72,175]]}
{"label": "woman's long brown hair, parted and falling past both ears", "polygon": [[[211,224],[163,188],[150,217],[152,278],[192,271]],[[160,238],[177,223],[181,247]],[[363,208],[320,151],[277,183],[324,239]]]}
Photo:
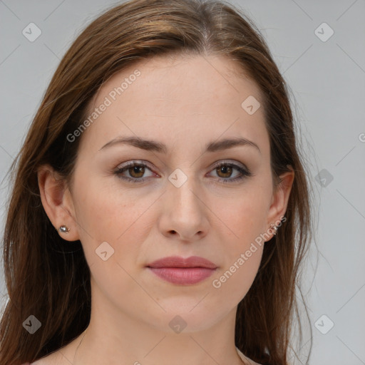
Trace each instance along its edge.
{"label": "woman's long brown hair, parted and falling past both ears", "polygon": [[[71,180],[86,117],[98,89],[118,71],[168,53],[222,55],[256,81],[263,95],[272,174],[295,173],[286,221],[264,245],[257,277],[237,309],[235,344],[260,364],[288,364],[295,287],[312,237],[309,182],[296,145],[288,88],[264,38],[225,1],[132,0],[109,9],[76,38],[59,64],[11,165],[4,230],[9,301],[0,323],[0,363],[19,365],[60,349],[88,327],[90,271],[81,242],[63,240],[41,204],[37,169],[50,164]],[[76,248],[75,248],[76,247]],[[24,321],[34,315],[34,334]]]}

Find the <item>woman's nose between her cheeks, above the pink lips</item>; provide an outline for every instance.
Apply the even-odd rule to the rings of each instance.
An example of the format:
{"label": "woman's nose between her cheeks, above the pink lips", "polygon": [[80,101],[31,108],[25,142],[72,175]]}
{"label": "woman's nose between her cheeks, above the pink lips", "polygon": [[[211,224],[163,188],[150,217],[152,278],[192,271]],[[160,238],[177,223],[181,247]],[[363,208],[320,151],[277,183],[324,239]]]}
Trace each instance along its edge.
{"label": "woman's nose between her cheeks, above the pink lips", "polygon": [[162,199],[159,229],[165,237],[194,242],[207,235],[209,210],[193,178],[180,187],[168,182]]}

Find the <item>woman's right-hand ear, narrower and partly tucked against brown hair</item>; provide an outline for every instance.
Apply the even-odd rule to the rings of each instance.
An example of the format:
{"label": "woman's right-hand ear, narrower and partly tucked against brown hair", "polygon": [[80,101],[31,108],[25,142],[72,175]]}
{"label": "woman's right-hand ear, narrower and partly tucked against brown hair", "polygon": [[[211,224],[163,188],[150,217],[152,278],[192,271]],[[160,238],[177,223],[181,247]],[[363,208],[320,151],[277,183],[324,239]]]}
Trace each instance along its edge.
{"label": "woman's right-hand ear, narrower and partly tucked against brown hair", "polygon": [[279,184],[272,195],[269,214],[267,216],[267,232],[274,232],[274,229],[270,229],[270,225],[279,225],[287,211],[289,195],[294,182],[294,170],[289,165],[288,168],[290,171],[279,176]]}

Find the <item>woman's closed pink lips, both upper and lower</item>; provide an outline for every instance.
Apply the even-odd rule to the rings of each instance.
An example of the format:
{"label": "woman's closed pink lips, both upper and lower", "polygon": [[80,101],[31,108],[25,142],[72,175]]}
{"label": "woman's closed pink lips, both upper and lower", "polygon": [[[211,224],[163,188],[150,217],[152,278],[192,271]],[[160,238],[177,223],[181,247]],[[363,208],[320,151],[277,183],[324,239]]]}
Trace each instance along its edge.
{"label": "woman's closed pink lips, both upper and lower", "polygon": [[217,265],[198,256],[170,256],[147,265],[154,274],[173,284],[190,285],[201,282],[215,272]]}

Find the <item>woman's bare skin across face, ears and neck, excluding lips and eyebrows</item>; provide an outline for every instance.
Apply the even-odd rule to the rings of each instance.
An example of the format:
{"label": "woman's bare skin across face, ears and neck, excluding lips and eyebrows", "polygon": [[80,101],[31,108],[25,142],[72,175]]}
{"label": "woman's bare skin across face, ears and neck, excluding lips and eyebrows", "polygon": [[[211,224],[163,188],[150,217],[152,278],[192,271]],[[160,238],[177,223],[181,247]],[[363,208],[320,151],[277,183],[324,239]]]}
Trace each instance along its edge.
{"label": "woman's bare skin across face, ears and neck, excluding lips and eyebrows", "polygon": [[[88,111],[135,69],[140,76],[78,137],[72,185],[60,184],[49,166],[38,171],[53,226],[66,225],[70,232],[60,235],[83,245],[92,307],[83,334],[33,364],[242,365],[235,349],[237,304],[250,289],[263,247],[270,245],[264,241],[272,235],[244,264],[236,264],[220,287],[212,283],[284,216],[294,173],[282,175],[274,190],[264,110],[250,115],[241,106],[248,96],[261,101],[259,88],[238,77],[239,66],[221,56],[163,56],[136,63],[110,78]],[[163,143],[166,152],[122,143],[103,148],[129,136]],[[246,138],[257,148],[205,151],[207,143],[225,138]],[[148,167],[117,175],[128,161]],[[226,170],[217,168],[220,162]],[[242,173],[232,163],[252,175],[234,180]],[[180,187],[168,179],[176,169],[187,178]],[[120,176],[144,180],[133,183]],[[102,242],[114,250],[106,261],[96,254]],[[205,257],[217,269],[197,284],[180,285],[146,267],[172,255]],[[177,315],[186,324],[180,333],[169,326]],[[256,363],[246,358],[245,364]]]}

